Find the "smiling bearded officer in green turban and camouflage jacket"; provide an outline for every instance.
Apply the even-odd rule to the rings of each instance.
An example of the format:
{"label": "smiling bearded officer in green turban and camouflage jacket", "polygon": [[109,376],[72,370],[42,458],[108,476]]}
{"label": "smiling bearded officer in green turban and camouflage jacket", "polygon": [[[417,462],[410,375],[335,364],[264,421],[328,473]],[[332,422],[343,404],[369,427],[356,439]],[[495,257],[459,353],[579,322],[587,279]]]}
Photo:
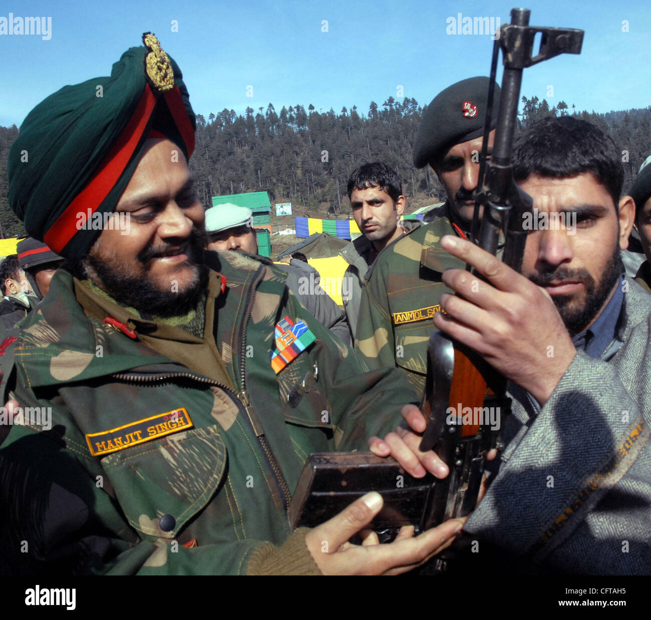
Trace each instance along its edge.
{"label": "smiling bearded officer in green turban and camouflage jacket", "polygon": [[[0,450],[3,571],[406,571],[460,521],[355,546],[379,494],[313,530],[291,532],[286,509],[309,453],[363,448],[417,396],[368,371],[284,274],[238,252],[202,263],[195,116],[176,63],[143,41],[37,105],[9,155],[12,209],[67,262],[2,344],[3,395],[35,412]],[[101,232],[78,225],[88,213]]]}

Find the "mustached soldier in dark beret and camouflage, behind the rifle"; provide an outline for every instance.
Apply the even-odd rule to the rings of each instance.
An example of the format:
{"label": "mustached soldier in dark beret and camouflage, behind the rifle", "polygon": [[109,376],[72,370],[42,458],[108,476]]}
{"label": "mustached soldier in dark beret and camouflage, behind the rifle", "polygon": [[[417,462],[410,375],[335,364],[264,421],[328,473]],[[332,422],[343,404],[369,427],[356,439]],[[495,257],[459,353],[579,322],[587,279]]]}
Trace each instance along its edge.
{"label": "mustached soldier in dark beret and camouflage, behind the rifle", "polygon": [[[479,174],[478,154],[486,121],[488,77],[471,77],[445,88],[424,112],[413,148],[417,168],[432,166],[447,201],[432,221],[411,230],[378,256],[361,293],[355,348],[371,368],[397,366],[422,393],[432,317],[441,310],[447,288],[441,273],[460,266],[439,245],[447,234],[467,236]],[[499,107],[495,84],[493,110]],[[497,122],[493,116],[493,127]],[[495,131],[489,135],[488,154]]]}

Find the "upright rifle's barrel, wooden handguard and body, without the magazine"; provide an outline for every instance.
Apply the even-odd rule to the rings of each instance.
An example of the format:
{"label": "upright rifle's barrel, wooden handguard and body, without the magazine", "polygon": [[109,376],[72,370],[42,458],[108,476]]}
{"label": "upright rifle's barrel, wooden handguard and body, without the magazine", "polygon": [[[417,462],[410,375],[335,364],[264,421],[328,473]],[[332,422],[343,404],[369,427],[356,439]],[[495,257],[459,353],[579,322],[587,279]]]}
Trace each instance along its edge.
{"label": "upright rifle's barrel, wooden handguard and body, without the magazine", "polygon": [[[522,70],[561,53],[580,53],[583,42],[580,30],[530,27],[529,14],[529,10],[514,8],[511,23],[501,29],[493,46],[471,232],[473,241],[493,255],[497,254],[503,236],[503,261],[516,271],[521,269],[527,240],[524,216],[531,213],[533,202],[514,182],[511,166]],[[538,54],[533,56],[536,33],[542,33],[542,39]],[[493,152],[488,160],[499,47],[503,51],[504,75]],[[483,216],[477,236],[480,209]],[[428,418],[428,426],[420,449],[434,449],[450,468],[449,476],[437,482],[425,515],[423,525],[432,526],[452,517],[464,517],[477,504],[486,454],[492,448],[502,447],[497,431],[510,412],[506,379],[477,353],[436,332],[428,344],[428,375],[421,409]]]}

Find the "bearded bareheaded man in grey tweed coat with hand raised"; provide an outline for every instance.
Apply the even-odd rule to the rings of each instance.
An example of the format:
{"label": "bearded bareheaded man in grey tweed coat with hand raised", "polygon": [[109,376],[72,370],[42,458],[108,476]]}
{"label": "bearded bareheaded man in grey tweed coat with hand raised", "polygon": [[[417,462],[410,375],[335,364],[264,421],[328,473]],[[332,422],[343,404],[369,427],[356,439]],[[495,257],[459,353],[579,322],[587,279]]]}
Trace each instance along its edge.
{"label": "bearded bareheaded man in grey tweed coat with hand raised", "polygon": [[[514,178],[561,222],[529,232],[522,275],[441,239],[487,281],[445,271],[460,296],[441,297],[434,324],[512,382],[506,449],[464,531],[484,568],[505,559],[509,573],[649,574],[651,296],[623,276],[635,204],[619,197],[620,155],[596,126],[547,118],[516,145]],[[406,417],[417,432],[387,437],[394,453],[418,453],[424,418]]]}

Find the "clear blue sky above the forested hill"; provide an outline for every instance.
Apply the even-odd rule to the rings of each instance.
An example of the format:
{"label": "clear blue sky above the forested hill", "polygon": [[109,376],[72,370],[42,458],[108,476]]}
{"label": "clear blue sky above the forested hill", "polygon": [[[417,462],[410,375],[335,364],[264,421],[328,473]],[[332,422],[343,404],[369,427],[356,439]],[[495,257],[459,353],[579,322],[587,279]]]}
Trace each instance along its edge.
{"label": "clear blue sky above the forested hill", "polygon": [[[355,104],[367,113],[371,100],[381,105],[396,98],[400,86],[422,105],[455,81],[490,70],[490,36],[447,34],[448,18],[461,13],[505,22],[516,0],[53,4],[2,3],[0,18],[10,12],[51,17],[51,38],[0,34],[0,125],[20,126],[36,103],[63,85],[108,75],[145,31],[178,62],[195,112],[206,117],[225,107],[266,109],[270,102],[277,112],[312,103],[336,112]],[[585,39],[580,56],[525,70],[522,94],[543,98],[551,85],[550,105],[564,100],[597,112],[651,105],[648,0],[534,0],[526,6],[532,25],[580,28]],[[249,85],[253,98],[246,96]]]}

